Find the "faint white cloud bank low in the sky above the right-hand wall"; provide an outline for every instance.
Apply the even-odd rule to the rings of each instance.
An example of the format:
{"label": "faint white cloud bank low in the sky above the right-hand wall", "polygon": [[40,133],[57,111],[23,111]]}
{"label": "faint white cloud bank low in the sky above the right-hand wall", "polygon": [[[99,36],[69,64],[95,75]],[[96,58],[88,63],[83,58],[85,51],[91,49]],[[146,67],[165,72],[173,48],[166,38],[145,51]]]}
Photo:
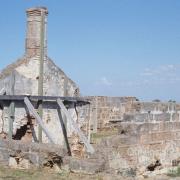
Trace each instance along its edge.
{"label": "faint white cloud bank low in the sky above the right-hand wall", "polygon": [[145,68],[140,76],[131,79],[117,78],[112,83],[106,76],[101,77],[96,85],[102,87],[119,87],[119,88],[144,88],[161,85],[172,85],[180,83],[180,65],[167,64],[155,68]]}

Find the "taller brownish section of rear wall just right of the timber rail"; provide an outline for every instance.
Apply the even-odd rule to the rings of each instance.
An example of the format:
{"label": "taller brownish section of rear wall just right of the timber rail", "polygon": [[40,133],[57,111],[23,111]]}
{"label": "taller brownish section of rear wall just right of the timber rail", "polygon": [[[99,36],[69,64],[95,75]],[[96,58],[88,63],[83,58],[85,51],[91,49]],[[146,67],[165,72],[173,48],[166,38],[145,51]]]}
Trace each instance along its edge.
{"label": "taller brownish section of rear wall just right of the timber rail", "polygon": [[[86,98],[90,101],[90,114],[85,117],[90,119],[91,126],[97,123],[99,129],[110,122],[122,121],[125,113],[133,113],[132,104],[136,101],[134,97],[88,96]],[[88,107],[82,107],[80,113],[87,115]]]}

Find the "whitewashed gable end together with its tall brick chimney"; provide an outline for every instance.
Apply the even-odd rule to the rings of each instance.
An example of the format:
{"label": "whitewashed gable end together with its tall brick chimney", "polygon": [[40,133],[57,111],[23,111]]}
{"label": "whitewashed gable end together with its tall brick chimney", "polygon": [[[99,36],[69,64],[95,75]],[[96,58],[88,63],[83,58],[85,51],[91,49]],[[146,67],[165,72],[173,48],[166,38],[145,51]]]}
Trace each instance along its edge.
{"label": "whitewashed gable end together with its tall brick chimney", "polygon": [[[79,88],[67,75],[54,64],[47,54],[47,15],[46,8],[30,8],[27,13],[27,33],[25,54],[7,66],[0,73],[0,89],[4,89],[6,95],[38,95],[39,66],[41,53],[41,25],[44,28],[44,96],[79,96]],[[44,13],[44,16],[41,14]],[[42,18],[43,17],[43,18]],[[42,21],[44,23],[42,23]],[[8,134],[8,108],[4,107],[0,118],[1,133]],[[43,121],[57,144],[62,144],[62,130],[59,124],[56,109],[43,109]],[[21,139],[16,136],[18,131],[25,131],[28,123],[27,113],[22,107],[15,107],[15,119],[13,122],[13,136],[15,139]],[[34,123],[37,132],[37,124]],[[69,129],[69,128],[68,128]],[[58,132],[58,135],[57,135]],[[20,133],[21,134],[21,133]],[[31,139],[31,138],[30,138]],[[47,142],[43,134],[43,142]]]}

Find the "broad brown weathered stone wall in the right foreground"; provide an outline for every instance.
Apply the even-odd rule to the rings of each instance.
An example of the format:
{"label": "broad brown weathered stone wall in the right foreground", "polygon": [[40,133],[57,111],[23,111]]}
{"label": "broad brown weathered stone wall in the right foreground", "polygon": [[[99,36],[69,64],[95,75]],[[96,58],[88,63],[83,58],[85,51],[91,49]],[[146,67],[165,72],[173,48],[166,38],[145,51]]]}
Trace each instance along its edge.
{"label": "broad brown weathered stone wall in the right foreground", "polygon": [[104,138],[96,150],[94,156],[105,159],[107,170],[116,173],[147,171],[157,162],[162,168],[178,165],[180,122],[124,123],[119,135]]}

